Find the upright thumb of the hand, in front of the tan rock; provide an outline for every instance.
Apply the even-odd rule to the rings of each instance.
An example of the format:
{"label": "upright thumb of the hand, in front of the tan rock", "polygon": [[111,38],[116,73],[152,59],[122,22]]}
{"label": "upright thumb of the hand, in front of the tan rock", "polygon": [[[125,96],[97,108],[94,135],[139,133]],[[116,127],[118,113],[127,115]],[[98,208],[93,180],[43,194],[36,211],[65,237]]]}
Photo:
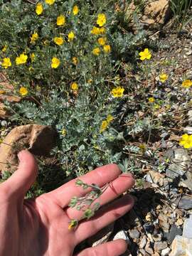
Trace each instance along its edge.
{"label": "upright thumb of the hand, in front of the tan rock", "polygon": [[31,185],[36,181],[38,166],[36,159],[27,150],[18,153],[18,169],[2,185],[7,196],[24,197]]}

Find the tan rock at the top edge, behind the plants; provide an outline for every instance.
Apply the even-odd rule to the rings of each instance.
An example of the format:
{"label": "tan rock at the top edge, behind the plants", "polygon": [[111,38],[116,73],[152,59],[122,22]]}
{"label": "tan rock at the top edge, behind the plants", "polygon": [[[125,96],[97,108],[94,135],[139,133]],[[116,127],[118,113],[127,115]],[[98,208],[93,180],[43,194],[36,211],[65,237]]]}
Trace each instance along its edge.
{"label": "tan rock at the top edge, behind the plants", "polygon": [[142,23],[146,26],[163,25],[170,14],[170,0],[152,0],[144,8]]}

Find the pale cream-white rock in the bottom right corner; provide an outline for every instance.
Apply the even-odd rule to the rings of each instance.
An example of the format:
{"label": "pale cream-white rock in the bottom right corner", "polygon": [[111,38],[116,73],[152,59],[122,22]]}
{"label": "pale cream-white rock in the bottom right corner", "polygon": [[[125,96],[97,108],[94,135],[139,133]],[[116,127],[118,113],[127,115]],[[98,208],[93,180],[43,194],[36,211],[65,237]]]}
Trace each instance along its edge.
{"label": "pale cream-white rock in the bottom right corner", "polygon": [[191,256],[192,252],[192,239],[183,238],[181,235],[176,235],[172,245],[171,245],[170,256]]}

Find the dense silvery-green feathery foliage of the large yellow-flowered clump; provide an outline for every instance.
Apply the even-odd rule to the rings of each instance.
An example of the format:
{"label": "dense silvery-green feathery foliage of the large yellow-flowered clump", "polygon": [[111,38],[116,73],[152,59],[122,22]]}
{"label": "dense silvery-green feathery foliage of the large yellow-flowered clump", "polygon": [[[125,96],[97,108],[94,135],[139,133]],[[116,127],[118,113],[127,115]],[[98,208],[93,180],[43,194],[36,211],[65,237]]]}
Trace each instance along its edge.
{"label": "dense silvery-green feathery foliage of the large yellow-flowered clump", "polygon": [[[137,34],[124,33],[119,15],[114,11],[115,1],[55,1],[48,6],[44,1],[43,13],[36,14],[36,6],[25,1],[12,0],[1,3],[0,46],[1,60],[11,59],[6,75],[14,85],[14,93],[20,88],[28,90],[22,102],[11,105],[11,122],[17,124],[46,124],[58,132],[58,146],[53,154],[65,175],[79,176],[96,166],[122,161],[123,136],[119,137],[117,107],[121,98],[114,98],[111,91],[121,86],[119,68],[122,61],[134,59],[135,51],[145,41],[142,28]],[[78,15],[73,6],[78,5]],[[97,26],[97,15],[105,14],[105,34],[92,34]],[[65,26],[57,26],[57,17],[65,16]],[[138,25],[139,27],[139,25]],[[75,38],[68,41],[68,33]],[[38,38],[31,40],[33,33]],[[61,46],[55,37],[65,41]],[[105,53],[97,39],[107,38],[111,52]],[[100,48],[99,55],[92,50]],[[28,55],[26,63],[16,64],[16,58]],[[34,55],[33,55],[34,54]],[[34,57],[35,56],[35,57]],[[58,68],[52,68],[52,58],[60,60]],[[77,58],[78,63],[73,62]],[[73,90],[72,83],[78,84]],[[129,85],[124,85],[129,90]],[[26,96],[26,97],[24,97]],[[103,132],[102,122],[112,115]],[[41,186],[45,181],[41,173]],[[44,189],[44,188],[43,188]]]}

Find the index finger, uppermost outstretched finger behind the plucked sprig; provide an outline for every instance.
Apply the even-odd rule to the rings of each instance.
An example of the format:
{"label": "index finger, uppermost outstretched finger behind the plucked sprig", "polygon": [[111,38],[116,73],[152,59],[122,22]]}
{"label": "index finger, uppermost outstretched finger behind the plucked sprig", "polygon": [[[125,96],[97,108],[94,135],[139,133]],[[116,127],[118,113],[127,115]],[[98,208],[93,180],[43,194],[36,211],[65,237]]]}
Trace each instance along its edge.
{"label": "index finger, uppermost outstretched finger behind the plucked sprig", "polygon": [[91,191],[91,188],[83,189],[82,187],[77,186],[75,184],[77,179],[80,179],[87,184],[95,183],[97,186],[102,187],[106,183],[113,181],[120,174],[121,171],[117,164],[108,164],[106,166],[98,167],[94,171],[90,171],[88,174],[75,178],[72,181],[65,183],[63,186],[56,188],[54,191],[49,192],[47,196],[51,196],[51,199],[55,200],[55,203],[61,208],[64,208],[65,206],[68,206],[70,199],[73,198],[73,196],[82,197]]}

